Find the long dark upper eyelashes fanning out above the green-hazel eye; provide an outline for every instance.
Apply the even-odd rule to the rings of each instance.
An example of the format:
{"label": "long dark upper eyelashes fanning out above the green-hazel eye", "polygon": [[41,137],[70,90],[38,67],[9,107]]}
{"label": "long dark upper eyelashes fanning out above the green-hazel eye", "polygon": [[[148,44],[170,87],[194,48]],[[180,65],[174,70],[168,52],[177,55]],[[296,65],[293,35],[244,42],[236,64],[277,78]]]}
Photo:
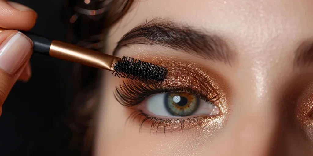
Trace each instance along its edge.
{"label": "long dark upper eyelashes fanning out above the green-hazel eye", "polygon": [[119,87],[116,87],[114,96],[121,105],[131,107],[140,104],[146,97],[164,92],[188,92],[194,95],[199,96],[200,99],[205,100],[206,102],[212,104],[211,102],[218,100],[219,96],[216,94],[212,98],[207,98],[210,95],[211,91],[209,90],[206,95],[201,94],[196,90],[191,88],[184,87],[168,87],[161,88],[153,85],[147,85],[138,81],[123,81],[123,84],[120,84]]}

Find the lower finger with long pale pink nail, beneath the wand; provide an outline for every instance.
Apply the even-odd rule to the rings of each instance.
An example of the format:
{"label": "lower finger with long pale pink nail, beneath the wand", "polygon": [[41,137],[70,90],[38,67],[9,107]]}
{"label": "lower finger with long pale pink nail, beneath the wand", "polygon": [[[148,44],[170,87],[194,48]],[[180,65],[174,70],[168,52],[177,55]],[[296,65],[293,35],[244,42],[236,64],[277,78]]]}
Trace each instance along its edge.
{"label": "lower finger with long pale pink nail, beneath the wand", "polygon": [[0,115],[3,102],[27,65],[32,51],[33,42],[21,32],[0,32]]}

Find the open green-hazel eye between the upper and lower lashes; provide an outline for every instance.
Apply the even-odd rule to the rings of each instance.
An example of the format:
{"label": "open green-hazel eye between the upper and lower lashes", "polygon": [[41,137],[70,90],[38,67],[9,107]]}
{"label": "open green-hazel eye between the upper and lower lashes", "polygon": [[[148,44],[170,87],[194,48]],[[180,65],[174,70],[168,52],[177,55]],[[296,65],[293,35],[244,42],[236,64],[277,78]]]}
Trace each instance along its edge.
{"label": "open green-hazel eye between the upper and lower lashes", "polygon": [[[150,96],[139,106],[146,114],[155,117],[212,116],[220,113],[217,106],[201,100],[191,93],[161,93]],[[146,110],[146,111],[145,111]]]}

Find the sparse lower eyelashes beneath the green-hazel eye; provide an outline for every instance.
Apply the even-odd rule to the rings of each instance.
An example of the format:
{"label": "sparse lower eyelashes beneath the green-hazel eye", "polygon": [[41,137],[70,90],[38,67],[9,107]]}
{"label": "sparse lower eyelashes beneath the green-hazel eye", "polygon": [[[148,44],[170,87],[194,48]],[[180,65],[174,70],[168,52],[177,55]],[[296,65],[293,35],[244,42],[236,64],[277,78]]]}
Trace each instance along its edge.
{"label": "sparse lower eyelashes beneath the green-hazel eye", "polygon": [[[129,120],[132,120],[133,122],[138,121],[139,122],[139,133],[141,133],[141,128],[144,123],[149,124],[150,126],[150,133],[158,133],[158,130],[160,128],[163,129],[164,134],[168,131],[171,133],[176,130],[180,130],[181,132],[183,130],[186,130],[186,128],[191,128],[192,126],[198,125],[201,126],[201,121],[199,118],[202,117],[192,117],[187,119],[160,119],[157,117],[152,117],[150,115],[147,115],[143,113],[142,110],[134,110],[131,115],[127,118],[125,124]],[[187,126],[186,126],[187,124]]]}

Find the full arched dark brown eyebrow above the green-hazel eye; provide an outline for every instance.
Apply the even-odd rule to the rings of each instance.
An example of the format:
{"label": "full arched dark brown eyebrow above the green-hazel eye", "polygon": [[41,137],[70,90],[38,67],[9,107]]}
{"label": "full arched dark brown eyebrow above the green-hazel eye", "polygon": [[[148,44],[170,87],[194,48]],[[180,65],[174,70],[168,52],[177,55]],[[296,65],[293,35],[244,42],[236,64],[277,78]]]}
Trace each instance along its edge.
{"label": "full arched dark brown eyebrow above the green-hazel eye", "polygon": [[127,32],[115,47],[114,54],[121,47],[133,44],[161,45],[229,65],[236,56],[217,35],[161,19],[153,19]]}

